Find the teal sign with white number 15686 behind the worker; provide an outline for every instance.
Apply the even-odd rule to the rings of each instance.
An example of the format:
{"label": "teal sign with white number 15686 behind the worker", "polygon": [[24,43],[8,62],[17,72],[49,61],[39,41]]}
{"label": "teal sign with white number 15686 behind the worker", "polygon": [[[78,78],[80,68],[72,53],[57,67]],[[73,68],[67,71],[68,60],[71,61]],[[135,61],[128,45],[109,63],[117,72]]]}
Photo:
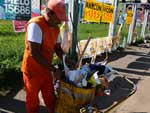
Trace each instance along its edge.
{"label": "teal sign with white number 15686 behind the worker", "polygon": [[30,18],[31,0],[0,1],[0,19],[29,20]]}

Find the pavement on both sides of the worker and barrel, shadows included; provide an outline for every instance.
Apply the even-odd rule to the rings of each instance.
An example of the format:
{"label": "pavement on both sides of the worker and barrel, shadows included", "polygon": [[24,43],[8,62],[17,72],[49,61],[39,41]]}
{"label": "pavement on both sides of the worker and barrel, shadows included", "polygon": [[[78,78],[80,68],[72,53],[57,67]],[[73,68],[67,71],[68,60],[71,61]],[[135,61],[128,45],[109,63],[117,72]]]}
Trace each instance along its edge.
{"label": "pavement on both sides of the worker and barrel, shadows included", "polygon": [[[137,85],[135,94],[110,113],[150,112],[150,48],[130,46],[124,51],[114,52],[109,55],[108,65]],[[0,113],[26,113],[24,90],[0,97]],[[42,113],[46,113],[44,108]]]}

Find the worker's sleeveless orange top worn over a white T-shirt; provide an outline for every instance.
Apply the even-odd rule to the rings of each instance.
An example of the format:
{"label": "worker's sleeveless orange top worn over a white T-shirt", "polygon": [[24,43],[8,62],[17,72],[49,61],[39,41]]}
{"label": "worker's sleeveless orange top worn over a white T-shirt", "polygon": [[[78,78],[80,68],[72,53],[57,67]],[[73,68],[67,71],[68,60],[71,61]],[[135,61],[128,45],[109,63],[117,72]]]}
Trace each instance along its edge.
{"label": "worker's sleeveless orange top worn over a white T-shirt", "polygon": [[[59,27],[50,27],[45,18],[43,16],[38,16],[35,18],[32,18],[28,23],[36,23],[42,31],[42,44],[41,44],[41,53],[42,55],[49,61],[49,63],[52,63],[53,59],[53,53],[54,53],[54,46],[56,44],[56,40],[59,34]],[[30,54],[29,50],[29,44],[28,44],[28,32],[26,32],[25,36],[25,52],[23,56],[23,62],[21,70],[22,72],[29,74],[29,75],[35,75],[43,74],[43,73],[49,73],[49,70],[45,68],[43,65],[39,64]]]}

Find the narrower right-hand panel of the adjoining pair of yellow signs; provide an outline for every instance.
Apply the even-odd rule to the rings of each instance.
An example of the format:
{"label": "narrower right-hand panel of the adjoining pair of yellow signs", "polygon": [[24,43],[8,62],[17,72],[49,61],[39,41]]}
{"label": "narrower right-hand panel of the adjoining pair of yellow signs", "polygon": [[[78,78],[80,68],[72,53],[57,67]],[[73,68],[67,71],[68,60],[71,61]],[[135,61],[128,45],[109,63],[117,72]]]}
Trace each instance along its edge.
{"label": "narrower right-hand panel of the adjoining pair of yellow signs", "polygon": [[114,18],[114,6],[104,4],[101,22],[110,23],[113,22],[113,18]]}

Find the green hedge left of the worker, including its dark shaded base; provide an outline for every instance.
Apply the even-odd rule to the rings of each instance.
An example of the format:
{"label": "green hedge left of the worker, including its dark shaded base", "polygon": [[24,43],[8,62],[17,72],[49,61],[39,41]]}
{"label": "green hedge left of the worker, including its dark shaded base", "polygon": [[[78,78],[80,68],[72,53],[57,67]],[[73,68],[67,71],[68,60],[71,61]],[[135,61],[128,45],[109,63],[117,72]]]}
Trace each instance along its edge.
{"label": "green hedge left of the worker, including its dark shaded base", "polygon": [[3,95],[22,81],[20,65],[23,52],[24,33],[0,35],[0,93],[3,91]]}

